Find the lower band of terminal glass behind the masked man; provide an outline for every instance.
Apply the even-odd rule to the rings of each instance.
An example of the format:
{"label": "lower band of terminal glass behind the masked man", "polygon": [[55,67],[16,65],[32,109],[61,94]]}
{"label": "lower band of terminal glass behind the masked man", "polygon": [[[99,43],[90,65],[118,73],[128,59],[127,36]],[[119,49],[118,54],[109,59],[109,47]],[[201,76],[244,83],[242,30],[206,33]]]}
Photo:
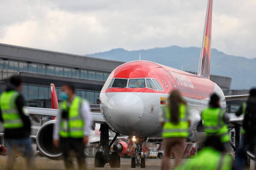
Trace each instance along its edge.
{"label": "lower band of terminal glass behind the masked man", "polygon": [[[60,98],[61,88],[55,87],[58,99]],[[87,99],[90,103],[96,103],[99,96],[98,91],[80,90],[75,89],[76,95]],[[51,99],[51,88],[47,86],[38,86],[23,84],[22,95],[27,101],[31,100],[49,100]]]}

